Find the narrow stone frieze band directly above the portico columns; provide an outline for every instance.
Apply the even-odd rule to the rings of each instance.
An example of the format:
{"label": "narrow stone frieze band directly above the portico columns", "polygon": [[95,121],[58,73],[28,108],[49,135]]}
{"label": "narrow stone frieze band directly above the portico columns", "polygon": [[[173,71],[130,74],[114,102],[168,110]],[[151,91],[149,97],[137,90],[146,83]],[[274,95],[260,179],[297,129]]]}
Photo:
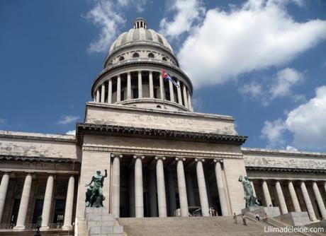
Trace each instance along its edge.
{"label": "narrow stone frieze band directly above the portico columns", "polygon": [[158,150],[146,150],[137,148],[108,148],[108,147],[93,147],[83,146],[83,151],[98,151],[108,153],[128,153],[128,154],[143,154],[143,155],[164,155],[164,156],[182,156],[190,158],[237,158],[242,159],[241,154],[237,153],[192,153],[192,152],[180,152],[180,151],[158,151]]}

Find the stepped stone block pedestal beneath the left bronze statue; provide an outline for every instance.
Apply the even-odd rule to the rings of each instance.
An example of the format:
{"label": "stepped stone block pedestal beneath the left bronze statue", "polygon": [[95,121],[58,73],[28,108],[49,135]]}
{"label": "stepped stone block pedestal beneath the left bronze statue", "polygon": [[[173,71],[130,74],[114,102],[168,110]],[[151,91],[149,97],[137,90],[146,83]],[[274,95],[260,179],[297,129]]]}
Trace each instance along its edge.
{"label": "stepped stone block pedestal beneath the left bronze statue", "polygon": [[118,225],[113,214],[108,213],[108,209],[104,207],[86,207],[86,230],[89,236],[100,235],[123,235],[123,226]]}

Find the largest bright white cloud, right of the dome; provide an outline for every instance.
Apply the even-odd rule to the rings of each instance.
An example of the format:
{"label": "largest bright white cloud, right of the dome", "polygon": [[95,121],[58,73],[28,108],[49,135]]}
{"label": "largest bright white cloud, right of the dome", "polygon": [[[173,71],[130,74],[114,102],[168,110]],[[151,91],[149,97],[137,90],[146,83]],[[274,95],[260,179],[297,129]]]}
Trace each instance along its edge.
{"label": "largest bright white cloud, right of the dome", "polygon": [[286,11],[286,2],[249,0],[229,12],[207,11],[178,53],[194,85],[225,83],[242,73],[286,64],[325,40],[325,20],[298,22]]}

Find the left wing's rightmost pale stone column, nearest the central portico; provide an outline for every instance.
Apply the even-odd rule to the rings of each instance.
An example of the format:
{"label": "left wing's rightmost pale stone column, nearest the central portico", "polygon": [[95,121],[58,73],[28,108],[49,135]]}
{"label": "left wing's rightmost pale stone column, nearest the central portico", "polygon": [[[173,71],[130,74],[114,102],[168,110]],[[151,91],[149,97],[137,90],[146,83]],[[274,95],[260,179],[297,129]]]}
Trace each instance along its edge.
{"label": "left wing's rightmost pale stone column, nearest the central portico", "polygon": [[64,224],[62,230],[72,230],[72,209],[74,208],[74,176],[69,177]]}

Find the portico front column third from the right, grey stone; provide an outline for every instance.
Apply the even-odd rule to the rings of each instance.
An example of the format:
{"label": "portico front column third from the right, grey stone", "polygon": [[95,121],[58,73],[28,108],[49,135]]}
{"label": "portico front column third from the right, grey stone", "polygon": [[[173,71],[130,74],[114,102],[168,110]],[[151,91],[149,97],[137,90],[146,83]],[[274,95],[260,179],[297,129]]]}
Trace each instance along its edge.
{"label": "portico front column third from the right, grey stone", "polygon": [[176,158],[176,175],[178,178],[181,216],[189,216],[186,178],[184,177],[184,160],[186,158]]}

